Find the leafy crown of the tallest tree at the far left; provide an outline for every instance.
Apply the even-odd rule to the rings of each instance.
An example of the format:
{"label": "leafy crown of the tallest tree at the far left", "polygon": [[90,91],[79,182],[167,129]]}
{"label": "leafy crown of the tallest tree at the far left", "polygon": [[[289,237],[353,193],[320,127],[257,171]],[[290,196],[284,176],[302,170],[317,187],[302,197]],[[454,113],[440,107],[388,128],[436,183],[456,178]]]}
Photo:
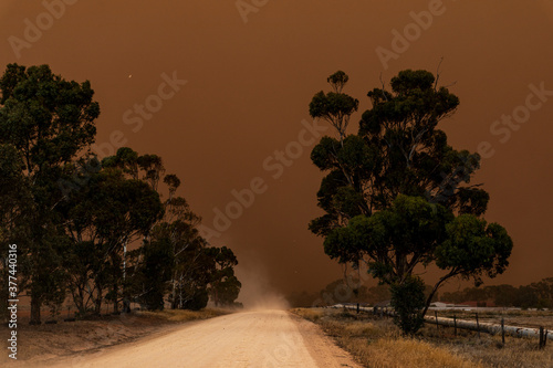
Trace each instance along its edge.
{"label": "leafy crown of the tallest tree at the far left", "polygon": [[0,78],[0,138],[30,172],[71,161],[94,141],[100,107],[90,82],[67,82],[48,65],[9,64]]}

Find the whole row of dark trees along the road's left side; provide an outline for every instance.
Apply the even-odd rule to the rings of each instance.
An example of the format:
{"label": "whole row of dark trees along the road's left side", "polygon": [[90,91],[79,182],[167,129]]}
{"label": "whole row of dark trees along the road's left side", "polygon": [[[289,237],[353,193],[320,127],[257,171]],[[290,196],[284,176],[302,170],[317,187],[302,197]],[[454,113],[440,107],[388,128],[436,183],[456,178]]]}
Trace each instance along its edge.
{"label": "whole row of dark trees along the road's left side", "polygon": [[0,287],[8,295],[8,245],[17,244],[31,324],[67,297],[82,315],[106,302],[115,313],[132,301],[159,309],[166,297],[174,308],[202,308],[210,295],[234,302],[234,254],[199,235],[200,218],[161,158],[91,151],[100,106],[90,82],[10,64],[0,92]]}

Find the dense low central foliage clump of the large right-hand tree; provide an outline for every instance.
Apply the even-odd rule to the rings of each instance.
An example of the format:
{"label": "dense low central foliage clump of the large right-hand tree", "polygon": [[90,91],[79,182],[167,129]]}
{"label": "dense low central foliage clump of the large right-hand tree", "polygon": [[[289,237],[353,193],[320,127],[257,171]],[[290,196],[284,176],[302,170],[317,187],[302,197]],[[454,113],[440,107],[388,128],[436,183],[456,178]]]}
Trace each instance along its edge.
{"label": "dense low central foliage clump of the large right-hand tree", "polygon": [[417,264],[432,260],[436,248],[446,240],[445,224],[452,218],[440,204],[400,194],[389,209],[371,217],[354,217],[346,227],[330,232],[324,241],[325,253],[341,263],[368,255],[373,276],[393,284]]}

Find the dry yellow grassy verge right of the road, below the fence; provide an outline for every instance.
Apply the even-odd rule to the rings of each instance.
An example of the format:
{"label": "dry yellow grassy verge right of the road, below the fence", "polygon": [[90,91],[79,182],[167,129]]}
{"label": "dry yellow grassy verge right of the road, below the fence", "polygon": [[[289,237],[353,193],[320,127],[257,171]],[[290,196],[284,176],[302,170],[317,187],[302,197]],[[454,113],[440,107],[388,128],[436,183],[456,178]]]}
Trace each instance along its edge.
{"label": "dry yellow grassy verge right of the road, below the fence", "polygon": [[538,339],[501,337],[426,325],[416,337],[401,336],[390,319],[337,309],[293,309],[317,323],[366,367],[553,367],[553,344],[538,350]]}

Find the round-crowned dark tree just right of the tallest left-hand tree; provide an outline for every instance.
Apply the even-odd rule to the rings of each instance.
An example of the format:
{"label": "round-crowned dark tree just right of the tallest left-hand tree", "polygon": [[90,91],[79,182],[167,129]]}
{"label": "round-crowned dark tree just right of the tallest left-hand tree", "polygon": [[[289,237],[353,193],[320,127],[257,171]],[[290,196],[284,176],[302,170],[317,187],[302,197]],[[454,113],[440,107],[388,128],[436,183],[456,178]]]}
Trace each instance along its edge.
{"label": "round-crowned dark tree just right of the tallest left-hand tree", "polygon": [[[74,255],[80,257],[70,265],[75,303],[86,312],[81,295],[87,293],[90,298],[94,294],[95,313],[100,314],[104,292],[111,288],[107,298],[116,313],[123,297],[124,246],[149,233],[163,207],[159,194],[146,182],[128,178],[124,168],[107,166],[87,175],[87,185],[72,191],[63,203],[67,233],[76,244]],[[81,257],[80,252],[88,255]]]}

